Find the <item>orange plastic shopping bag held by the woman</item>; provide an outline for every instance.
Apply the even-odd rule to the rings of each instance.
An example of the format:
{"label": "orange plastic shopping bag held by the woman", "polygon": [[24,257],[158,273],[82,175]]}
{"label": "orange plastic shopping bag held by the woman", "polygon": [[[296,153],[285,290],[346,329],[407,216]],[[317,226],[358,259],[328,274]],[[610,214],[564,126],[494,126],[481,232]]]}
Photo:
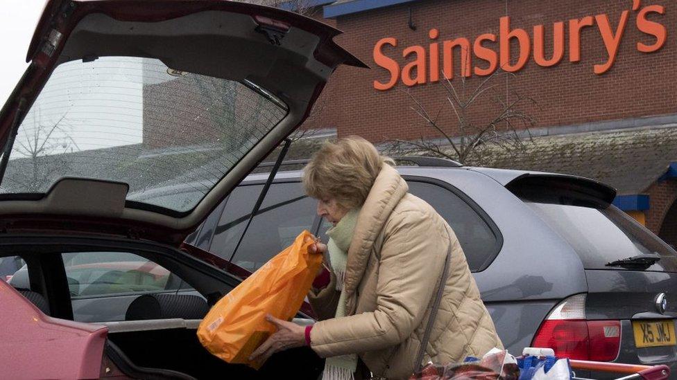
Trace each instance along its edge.
{"label": "orange plastic shopping bag held by the woman", "polygon": [[228,363],[259,368],[262,363],[248,358],[275,332],[266,314],[291,320],[320,268],[322,255],[308,251],[313,243],[313,235],[303,231],[291,246],[216,302],[198,327],[200,343]]}

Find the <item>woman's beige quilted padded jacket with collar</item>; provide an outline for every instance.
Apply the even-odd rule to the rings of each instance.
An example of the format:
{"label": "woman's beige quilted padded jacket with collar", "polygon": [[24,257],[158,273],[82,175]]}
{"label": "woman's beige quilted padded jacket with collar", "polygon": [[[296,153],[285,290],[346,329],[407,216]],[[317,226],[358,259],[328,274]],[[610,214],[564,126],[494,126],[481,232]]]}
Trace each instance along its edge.
{"label": "woman's beige quilted padded jacket with collar", "polygon": [[[441,273],[452,260],[423,362],[449,363],[502,347],[456,235],[389,165],[357,220],[345,271],[346,317],[333,318],[335,279],[309,300],[320,321],[311,347],[322,357],[359,354],[375,377],[407,379],[414,368]],[[451,239],[449,239],[451,236]]]}

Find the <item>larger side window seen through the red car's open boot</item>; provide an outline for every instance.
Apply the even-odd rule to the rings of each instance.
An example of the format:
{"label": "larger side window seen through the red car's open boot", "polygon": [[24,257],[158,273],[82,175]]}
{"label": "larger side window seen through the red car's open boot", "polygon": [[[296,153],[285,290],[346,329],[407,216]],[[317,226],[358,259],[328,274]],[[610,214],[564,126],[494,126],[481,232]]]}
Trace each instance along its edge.
{"label": "larger side window seen through the red car's open boot", "polygon": [[186,288],[177,275],[134,253],[63,253],[62,259],[74,320],[80,322],[124,320],[139,295]]}

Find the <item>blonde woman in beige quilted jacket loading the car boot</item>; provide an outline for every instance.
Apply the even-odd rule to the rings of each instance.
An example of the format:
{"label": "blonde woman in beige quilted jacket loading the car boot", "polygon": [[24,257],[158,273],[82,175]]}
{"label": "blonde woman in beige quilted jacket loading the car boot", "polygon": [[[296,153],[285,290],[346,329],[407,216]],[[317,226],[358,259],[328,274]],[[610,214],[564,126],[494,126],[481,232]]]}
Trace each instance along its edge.
{"label": "blonde woman in beige quilted jacket loading the car boot", "polygon": [[[502,347],[456,235],[425,201],[359,137],[326,143],[304,170],[318,199],[332,271],[309,294],[319,317],[300,327],[268,316],[277,332],[252,354],[310,345],[327,358],[323,379],[407,379],[424,340],[443,268],[451,252],[438,313],[423,363],[463,361]],[[327,246],[315,248],[324,253]],[[328,282],[328,283],[327,283]],[[364,368],[366,365],[366,369]]]}

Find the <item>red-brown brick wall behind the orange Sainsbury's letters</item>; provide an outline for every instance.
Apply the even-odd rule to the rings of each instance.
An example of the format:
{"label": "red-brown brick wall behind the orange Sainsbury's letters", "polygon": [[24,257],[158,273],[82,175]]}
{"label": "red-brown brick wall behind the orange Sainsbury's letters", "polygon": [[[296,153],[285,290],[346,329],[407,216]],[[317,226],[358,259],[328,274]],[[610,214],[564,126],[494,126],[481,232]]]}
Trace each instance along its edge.
{"label": "red-brown brick wall behind the orange Sainsbury's letters", "polygon": [[[677,114],[677,3],[674,0],[641,2],[640,10],[653,4],[665,6],[665,15],[649,17],[667,28],[667,41],[655,53],[637,51],[637,42],[653,44],[654,39],[637,30],[638,11],[631,10],[632,3],[629,0],[508,1],[511,29],[523,28],[529,33],[532,53],[524,69],[514,77],[495,78],[495,95],[505,97],[507,87],[508,100],[517,95],[533,98],[537,104],[523,109],[537,118],[538,127]],[[416,30],[407,26],[410,7]],[[630,10],[629,17],[615,65],[609,71],[602,75],[593,73],[592,66],[606,62],[607,57],[597,24],[581,32],[581,61],[569,62],[569,19],[606,14],[615,31],[624,10]],[[454,131],[456,121],[452,109],[446,105],[445,90],[440,84],[408,88],[400,82],[388,91],[372,87],[374,80],[387,82],[389,78],[388,72],[372,59],[374,45],[384,37],[395,37],[398,46],[385,48],[384,53],[402,67],[411,61],[402,58],[402,50],[412,45],[427,49],[431,28],[440,31],[436,41],[440,42],[441,51],[441,42],[445,39],[466,37],[472,44],[483,33],[498,35],[499,19],[504,15],[506,1],[423,0],[339,17],[336,26],[345,34],[336,37],[336,41],[372,69],[339,69],[323,94],[327,101],[321,115],[309,120],[307,125],[339,127],[339,135],[360,134],[371,141],[434,136],[429,127],[422,127],[422,119],[410,109],[413,102],[403,92],[409,89],[431,114],[440,112],[442,125]],[[556,66],[544,68],[533,62],[533,26],[544,26],[545,57],[550,57],[556,21],[565,21],[565,55]],[[513,49],[516,45],[513,44]],[[486,46],[499,50],[497,43]],[[515,57],[513,53],[513,62]],[[486,62],[480,65],[486,66]],[[461,88],[459,67],[458,53],[454,53],[456,78],[452,83],[456,89]],[[477,87],[485,78],[468,78],[466,85],[468,89]],[[477,123],[483,123],[497,111],[492,102],[478,106],[469,114]]]}

